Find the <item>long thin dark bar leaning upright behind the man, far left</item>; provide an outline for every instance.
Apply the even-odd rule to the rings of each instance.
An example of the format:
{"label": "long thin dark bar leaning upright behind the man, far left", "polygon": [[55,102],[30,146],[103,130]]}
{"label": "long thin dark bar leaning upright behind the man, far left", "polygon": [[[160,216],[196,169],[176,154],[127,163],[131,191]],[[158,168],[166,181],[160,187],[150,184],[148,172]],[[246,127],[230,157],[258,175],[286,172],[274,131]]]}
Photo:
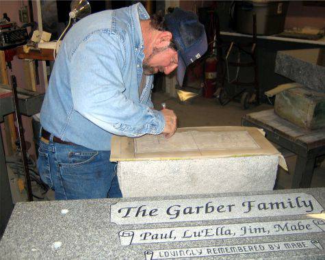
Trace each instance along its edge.
{"label": "long thin dark bar leaning upright behind the man, far left", "polygon": [[16,113],[16,120],[18,126],[18,138],[21,144],[21,156],[23,159],[23,167],[24,167],[24,174],[25,174],[25,187],[27,190],[28,200],[33,201],[33,194],[31,193],[31,179],[29,175],[27,155],[26,155],[26,143],[25,143],[25,137],[23,132],[23,123],[21,122],[21,112],[18,106],[17,81],[14,75],[11,76],[11,81],[12,81],[12,97],[14,99],[14,111]]}

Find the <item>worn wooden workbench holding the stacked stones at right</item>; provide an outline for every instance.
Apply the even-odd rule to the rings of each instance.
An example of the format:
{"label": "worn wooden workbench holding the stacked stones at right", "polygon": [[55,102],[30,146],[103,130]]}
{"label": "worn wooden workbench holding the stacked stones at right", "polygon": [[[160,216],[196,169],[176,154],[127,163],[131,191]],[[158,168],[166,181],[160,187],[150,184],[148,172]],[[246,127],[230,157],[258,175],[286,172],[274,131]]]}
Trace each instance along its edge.
{"label": "worn wooden workbench holding the stacked stones at right", "polygon": [[325,154],[324,129],[302,129],[277,116],[274,109],[247,114],[242,125],[263,128],[268,140],[295,153],[298,157],[291,188],[310,187],[315,159]]}

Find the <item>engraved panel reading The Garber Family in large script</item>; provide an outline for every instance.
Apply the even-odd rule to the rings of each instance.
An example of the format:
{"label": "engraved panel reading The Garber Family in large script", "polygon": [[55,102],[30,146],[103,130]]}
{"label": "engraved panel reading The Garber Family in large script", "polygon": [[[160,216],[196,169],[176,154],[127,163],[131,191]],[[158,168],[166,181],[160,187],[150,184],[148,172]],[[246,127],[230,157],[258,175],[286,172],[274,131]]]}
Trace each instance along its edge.
{"label": "engraved panel reading The Garber Family in large script", "polygon": [[183,200],[120,202],[111,207],[116,224],[149,224],[321,213],[309,194],[270,194]]}

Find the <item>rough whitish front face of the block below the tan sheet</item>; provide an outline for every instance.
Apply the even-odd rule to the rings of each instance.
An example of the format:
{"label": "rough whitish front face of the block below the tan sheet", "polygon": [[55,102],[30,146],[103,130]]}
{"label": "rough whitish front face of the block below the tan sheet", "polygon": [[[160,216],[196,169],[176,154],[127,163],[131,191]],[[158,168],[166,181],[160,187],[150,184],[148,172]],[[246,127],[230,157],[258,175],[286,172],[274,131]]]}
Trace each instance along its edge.
{"label": "rough whitish front face of the block below the tan sheet", "polygon": [[[278,155],[118,161],[124,197],[273,190]],[[177,184],[177,185],[175,185]]]}

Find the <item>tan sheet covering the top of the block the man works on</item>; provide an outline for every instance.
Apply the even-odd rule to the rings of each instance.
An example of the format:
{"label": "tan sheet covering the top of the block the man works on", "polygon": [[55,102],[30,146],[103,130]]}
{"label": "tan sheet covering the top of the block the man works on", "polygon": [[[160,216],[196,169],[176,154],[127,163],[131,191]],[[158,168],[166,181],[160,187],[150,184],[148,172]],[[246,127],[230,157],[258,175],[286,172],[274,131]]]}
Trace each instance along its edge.
{"label": "tan sheet covering the top of the block the man works on", "polygon": [[[162,138],[157,135],[114,136],[111,161],[280,155],[255,127],[187,127],[177,129],[170,140]],[[189,143],[182,145],[181,142]]]}

